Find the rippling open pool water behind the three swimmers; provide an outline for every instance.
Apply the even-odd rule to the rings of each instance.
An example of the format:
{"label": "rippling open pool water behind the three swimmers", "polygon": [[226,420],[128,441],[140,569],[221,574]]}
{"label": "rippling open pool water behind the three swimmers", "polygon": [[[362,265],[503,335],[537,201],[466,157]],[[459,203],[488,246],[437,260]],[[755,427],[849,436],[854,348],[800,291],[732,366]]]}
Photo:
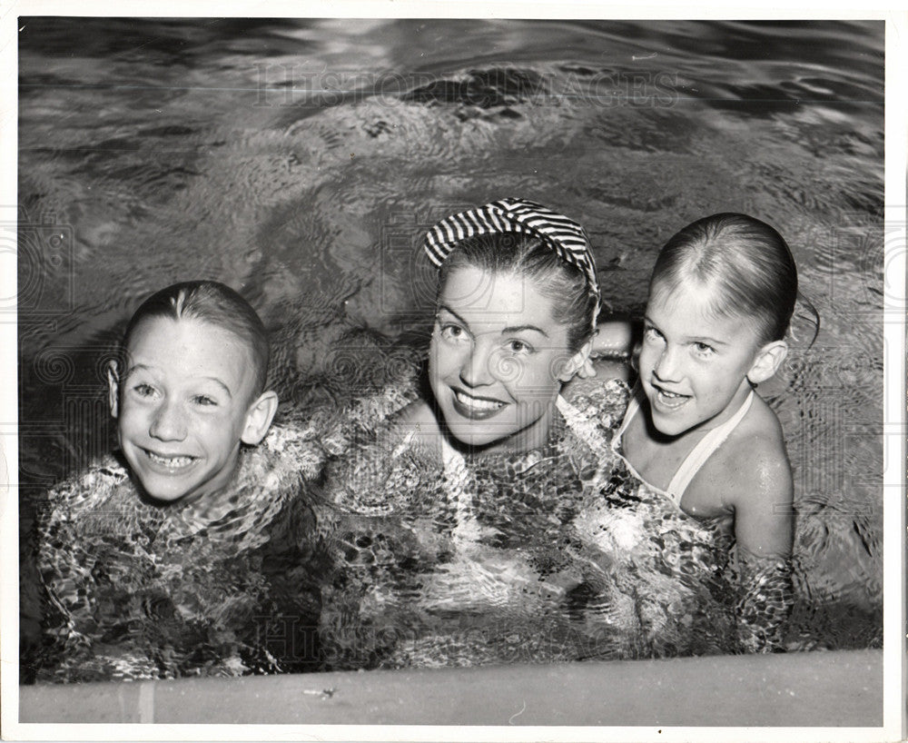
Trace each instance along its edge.
{"label": "rippling open pool water behind the three swimmers", "polygon": [[882,22],[19,25],[26,640],[32,504],[110,448],[104,360],[144,296],[241,289],[284,409],[341,407],[425,346],[422,233],[519,195],[586,227],[622,315],[697,217],[785,235],[822,321],[760,390],[795,470],[789,645],[881,645]]}

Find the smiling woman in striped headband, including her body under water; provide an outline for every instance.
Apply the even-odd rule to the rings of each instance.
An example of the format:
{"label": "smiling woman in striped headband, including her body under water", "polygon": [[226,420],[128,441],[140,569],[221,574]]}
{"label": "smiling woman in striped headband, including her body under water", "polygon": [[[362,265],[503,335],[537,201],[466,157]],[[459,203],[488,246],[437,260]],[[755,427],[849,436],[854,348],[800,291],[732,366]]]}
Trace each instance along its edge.
{"label": "smiling woman in striped headband, including her body under water", "polygon": [[[328,473],[329,666],[676,652],[665,616],[702,605],[710,584],[667,580],[643,520],[633,535],[624,525],[635,560],[600,529],[639,501],[608,446],[627,387],[600,384],[574,404],[561,396],[589,373],[596,328],[586,234],[507,199],[443,220],[425,248],[439,266],[429,391]],[[715,644],[696,642],[682,651]]]}

